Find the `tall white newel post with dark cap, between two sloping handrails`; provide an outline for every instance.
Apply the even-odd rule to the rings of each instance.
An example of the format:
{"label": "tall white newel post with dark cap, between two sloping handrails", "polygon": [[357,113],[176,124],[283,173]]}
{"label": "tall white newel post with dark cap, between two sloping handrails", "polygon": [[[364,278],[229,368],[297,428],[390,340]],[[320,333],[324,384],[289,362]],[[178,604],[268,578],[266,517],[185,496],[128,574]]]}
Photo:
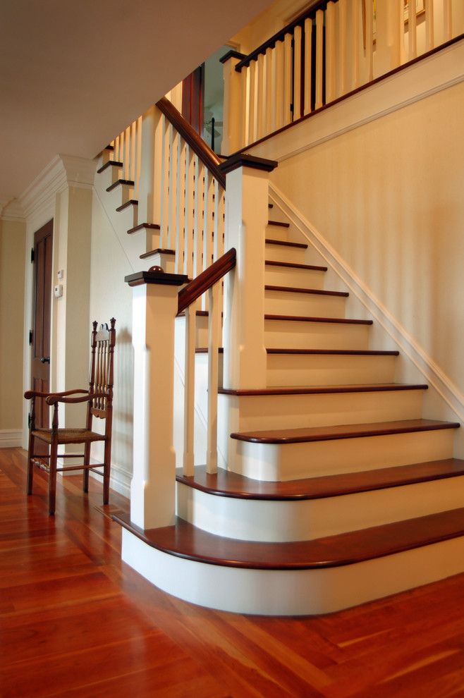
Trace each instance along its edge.
{"label": "tall white newel post with dark cap, between two sloping handrails", "polygon": [[224,388],[265,388],[264,244],[269,219],[268,173],[277,163],[237,154],[226,173],[225,250],[237,250],[224,279]]}

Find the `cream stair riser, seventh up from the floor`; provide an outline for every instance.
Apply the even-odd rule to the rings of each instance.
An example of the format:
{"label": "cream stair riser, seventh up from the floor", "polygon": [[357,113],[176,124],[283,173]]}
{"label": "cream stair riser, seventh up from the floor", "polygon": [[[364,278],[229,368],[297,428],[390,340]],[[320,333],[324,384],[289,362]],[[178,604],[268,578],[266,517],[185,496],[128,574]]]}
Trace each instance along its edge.
{"label": "cream stair riser, seventh up from the floor", "polygon": [[274,315],[303,315],[304,317],[345,317],[346,298],[318,293],[264,292],[264,312]]}

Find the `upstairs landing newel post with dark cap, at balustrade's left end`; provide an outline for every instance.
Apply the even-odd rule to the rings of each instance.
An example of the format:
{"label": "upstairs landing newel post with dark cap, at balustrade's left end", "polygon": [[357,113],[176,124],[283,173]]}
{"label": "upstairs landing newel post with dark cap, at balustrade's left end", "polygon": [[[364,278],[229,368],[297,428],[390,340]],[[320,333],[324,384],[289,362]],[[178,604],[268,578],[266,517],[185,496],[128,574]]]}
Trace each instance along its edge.
{"label": "upstairs landing newel post with dark cap, at balustrade's left end", "polygon": [[221,152],[226,155],[236,152],[244,144],[243,118],[245,104],[242,104],[242,80],[244,75],[236,71],[237,63],[244,59],[238,51],[228,51],[221,58],[224,68],[224,114]]}

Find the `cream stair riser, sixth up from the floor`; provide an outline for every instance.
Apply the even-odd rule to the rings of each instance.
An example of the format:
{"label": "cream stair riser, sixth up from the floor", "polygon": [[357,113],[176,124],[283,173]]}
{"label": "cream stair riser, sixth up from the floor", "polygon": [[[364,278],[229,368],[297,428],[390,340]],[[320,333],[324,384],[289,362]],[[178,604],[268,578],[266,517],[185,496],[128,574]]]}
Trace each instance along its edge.
{"label": "cream stair riser, sixth up from the floor", "polygon": [[264,320],[268,348],[368,349],[370,325]]}

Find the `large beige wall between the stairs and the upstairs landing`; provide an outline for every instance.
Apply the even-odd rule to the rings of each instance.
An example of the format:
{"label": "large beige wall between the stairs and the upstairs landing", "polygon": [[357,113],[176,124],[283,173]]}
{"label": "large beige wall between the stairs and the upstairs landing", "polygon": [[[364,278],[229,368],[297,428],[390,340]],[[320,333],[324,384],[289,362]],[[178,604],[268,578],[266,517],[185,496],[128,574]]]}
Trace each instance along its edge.
{"label": "large beige wall between the stairs and the upstairs landing", "polygon": [[463,111],[460,83],[283,161],[272,174],[461,393]]}

